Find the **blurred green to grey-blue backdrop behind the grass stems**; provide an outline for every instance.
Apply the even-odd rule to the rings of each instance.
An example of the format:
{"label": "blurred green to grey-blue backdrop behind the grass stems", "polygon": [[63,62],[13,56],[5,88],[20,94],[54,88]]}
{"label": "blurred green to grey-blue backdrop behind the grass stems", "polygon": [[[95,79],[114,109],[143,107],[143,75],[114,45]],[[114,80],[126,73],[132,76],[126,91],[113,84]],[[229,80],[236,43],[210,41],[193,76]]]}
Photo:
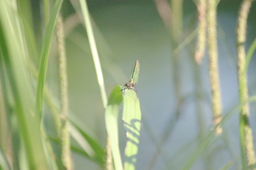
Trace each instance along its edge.
{"label": "blurred green to grey-blue backdrop behind the grass stems", "polygon": [[[173,0],[178,1],[178,0]],[[161,2],[164,2],[161,4]],[[41,1],[32,0],[33,26],[37,46],[43,37]],[[51,2],[52,3],[52,2]],[[208,54],[202,64],[195,63],[196,34],[181,47],[174,63],[171,30],[159,14],[169,8],[164,0],[88,1],[95,41],[99,50],[107,94],[116,85],[129,80],[133,63],[140,61],[137,94],[142,111],[137,169],[182,169],[212,131]],[[157,8],[158,5],[158,8]],[[162,6],[161,6],[162,5]],[[223,0],[217,6],[220,85],[223,114],[239,104],[237,83],[236,35],[240,1]],[[163,11],[162,11],[163,12]],[[178,45],[188,40],[197,26],[196,5],[183,1],[182,36]],[[102,145],[106,144],[104,107],[78,1],[64,1],[61,8],[67,52],[67,78],[70,111]],[[247,23],[247,49],[256,37],[256,5],[251,7]],[[36,65],[38,58],[33,59]],[[256,93],[255,55],[248,70],[250,96]],[[178,87],[174,66],[178,67]],[[47,86],[59,96],[56,37],[52,40],[47,66]],[[175,95],[180,90],[179,98]],[[55,101],[58,102],[59,101]],[[122,109],[122,108],[120,108]],[[48,112],[49,110],[43,110]],[[251,103],[251,128],[256,144],[256,107]],[[121,113],[121,111],[120,111]],[[121,118],[120,118],[121,119]],[[224,124],[223,134],[213,138],[196,159],[192,169],[240,169],[238,110]],[[48,131],[51,123],[46,122]],[[126,131],[119,120],[121,153],[126,145]],[[52,132],[53,134],[55,132]],[[72,141],[75,143],[75,141]],[[102,169],[95,162],[73,153],[75,169]]]}

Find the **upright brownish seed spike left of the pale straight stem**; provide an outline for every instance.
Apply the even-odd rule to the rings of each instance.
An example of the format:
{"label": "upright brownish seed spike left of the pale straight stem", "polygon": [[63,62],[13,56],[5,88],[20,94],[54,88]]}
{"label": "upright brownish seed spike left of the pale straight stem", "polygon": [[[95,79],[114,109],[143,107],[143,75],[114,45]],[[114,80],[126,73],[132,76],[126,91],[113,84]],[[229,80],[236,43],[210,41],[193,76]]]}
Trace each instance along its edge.
{"label": "upright brownish seed spike left of the pale straight stem", "polygon": [[61,138],[61,161],[64,168],[70,170],[73,168],[71,160],[71,141],[68,131],[68,95],[67,95],[67,61],[65,52],[65,41],[64,41],[64,27],[62,16],[59,13],[57,15],[57,46],[59,53],[59,76],[60,76],[60,90],[61,90],[61,131],[59,135]]}

